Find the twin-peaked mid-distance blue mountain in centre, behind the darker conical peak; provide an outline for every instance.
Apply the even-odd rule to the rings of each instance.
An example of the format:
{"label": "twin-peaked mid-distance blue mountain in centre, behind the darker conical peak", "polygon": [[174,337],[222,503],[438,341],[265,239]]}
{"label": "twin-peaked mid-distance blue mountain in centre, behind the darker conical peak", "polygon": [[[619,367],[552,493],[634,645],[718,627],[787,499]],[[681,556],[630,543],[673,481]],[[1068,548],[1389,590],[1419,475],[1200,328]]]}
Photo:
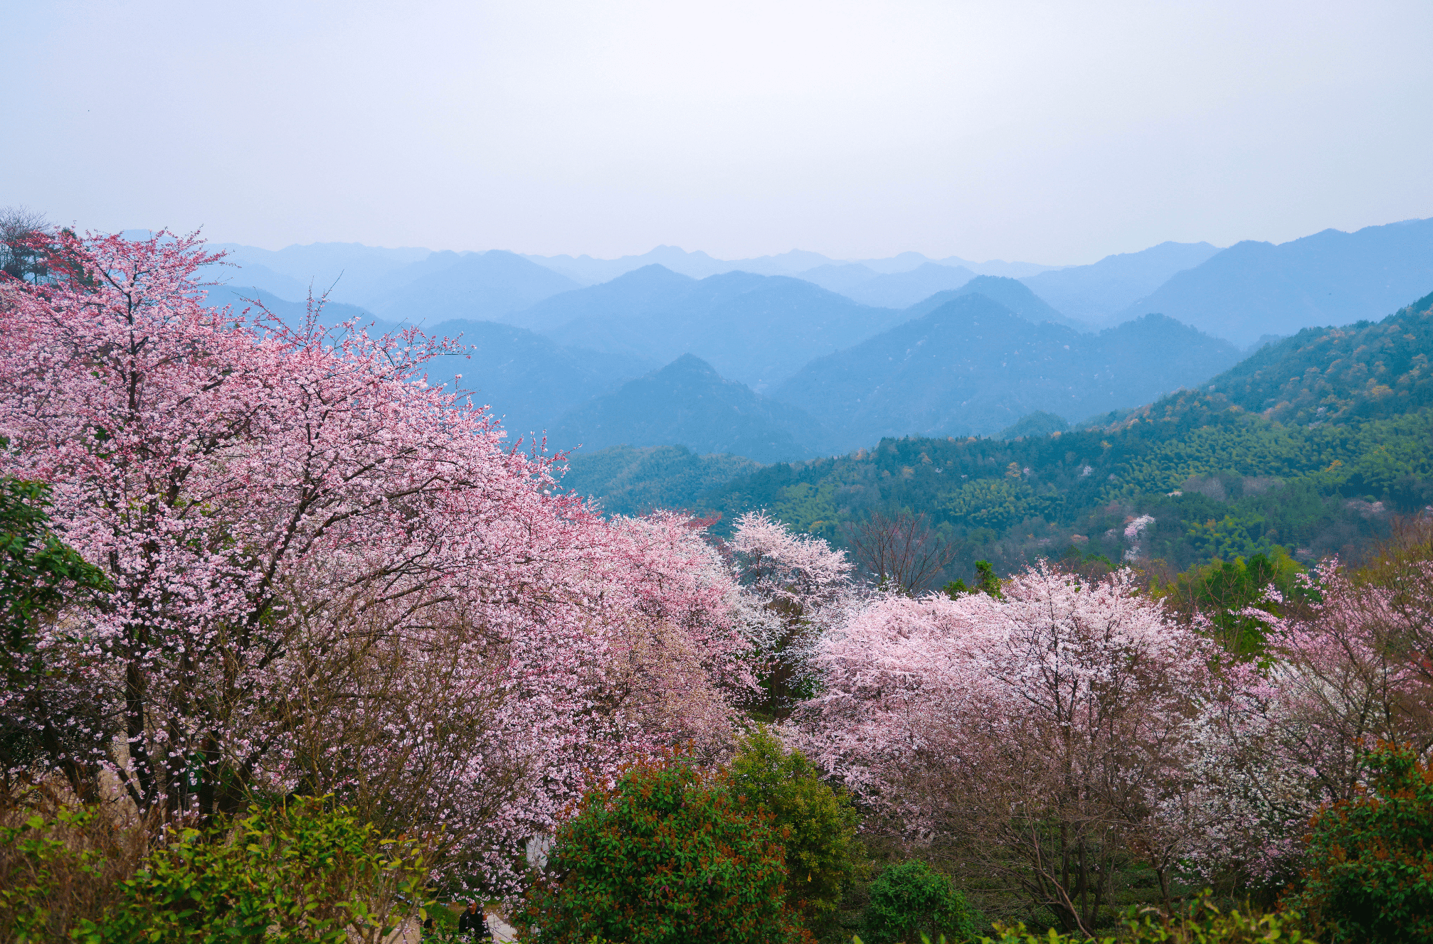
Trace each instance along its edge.
{"label": "twin-peaked mid-distance blue mountain in centre, behind the darker conical peak", "polygon": [[907,318],[780,275],[704,279],[659,265],[555,295],[507,318],[562,344],[666,362],[709,361],[757,390]]}

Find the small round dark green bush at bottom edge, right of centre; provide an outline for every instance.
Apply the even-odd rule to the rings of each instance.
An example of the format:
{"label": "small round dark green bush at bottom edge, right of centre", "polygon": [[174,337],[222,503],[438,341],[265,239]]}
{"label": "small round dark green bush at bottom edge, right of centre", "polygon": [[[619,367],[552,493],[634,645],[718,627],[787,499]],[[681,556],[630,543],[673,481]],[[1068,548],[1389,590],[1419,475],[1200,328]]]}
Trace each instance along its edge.
{"label": "small round dark green bush at bottom edge, right of centre", "polygon": [[863,940],[868,944],[946,935],[952,944],[979,940],[989,927],[950,880],[919,859],[891,865],[871,882]]}

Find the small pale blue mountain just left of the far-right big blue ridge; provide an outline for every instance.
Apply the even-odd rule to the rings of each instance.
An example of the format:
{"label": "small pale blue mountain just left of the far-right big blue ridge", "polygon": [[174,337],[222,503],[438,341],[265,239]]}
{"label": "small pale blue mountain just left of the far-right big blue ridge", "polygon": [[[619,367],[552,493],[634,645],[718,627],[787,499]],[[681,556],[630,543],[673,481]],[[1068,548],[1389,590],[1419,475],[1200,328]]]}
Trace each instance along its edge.
{"label": "small pale blue mountain just left of the far-right big blue ridge", "polygon": [[1218,251],[1207,242],[1161,242],[1141,252],[1108,255],[1092,265],[1072,265],[1020,281],[1070,318],[1101,324],[1175,272],[1192,269]]}

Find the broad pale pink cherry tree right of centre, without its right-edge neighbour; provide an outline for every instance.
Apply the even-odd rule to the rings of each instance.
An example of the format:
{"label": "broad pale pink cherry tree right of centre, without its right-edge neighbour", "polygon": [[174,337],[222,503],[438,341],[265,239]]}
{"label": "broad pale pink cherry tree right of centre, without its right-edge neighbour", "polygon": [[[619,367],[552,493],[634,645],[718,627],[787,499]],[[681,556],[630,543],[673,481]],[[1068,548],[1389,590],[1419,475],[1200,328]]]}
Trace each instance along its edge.
{"label": "broad pale pink cherry tree right of centre, without its right-edge neighbour", "polygon": [[792,739],[936,851],[960,849],[1072,930],[1112,865],[1182,848],[1207,640],[1136,593],[1046,563],[987,594],[878,596],[818,650],[825,692]]}

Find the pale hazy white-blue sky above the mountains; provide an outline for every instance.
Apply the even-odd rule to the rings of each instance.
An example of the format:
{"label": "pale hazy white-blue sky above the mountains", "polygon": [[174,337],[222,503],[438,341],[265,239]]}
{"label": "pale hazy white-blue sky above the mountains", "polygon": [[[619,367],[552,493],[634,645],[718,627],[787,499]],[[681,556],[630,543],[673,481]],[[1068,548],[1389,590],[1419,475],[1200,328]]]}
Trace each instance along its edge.
{"label": "pale hazy white-blue sky above the mountains", "polygon": [[1433,3],[16,4],[0,205],[279,248],[1092,262],[1433,216]]}

